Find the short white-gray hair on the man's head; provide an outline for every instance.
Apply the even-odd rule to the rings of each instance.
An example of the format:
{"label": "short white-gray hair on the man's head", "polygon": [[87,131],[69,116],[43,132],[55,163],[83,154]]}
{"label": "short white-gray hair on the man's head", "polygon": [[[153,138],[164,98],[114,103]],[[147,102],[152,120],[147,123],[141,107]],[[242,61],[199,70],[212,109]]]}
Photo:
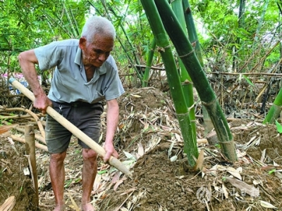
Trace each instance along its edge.
{"label": "short white-gray hair on the man's head", "polygon": [[89,18],[82,28],[81,37],[92,42],[95,34],[103,34],[105,37],[116,38],[114,25],[106,18],[93,16]]}

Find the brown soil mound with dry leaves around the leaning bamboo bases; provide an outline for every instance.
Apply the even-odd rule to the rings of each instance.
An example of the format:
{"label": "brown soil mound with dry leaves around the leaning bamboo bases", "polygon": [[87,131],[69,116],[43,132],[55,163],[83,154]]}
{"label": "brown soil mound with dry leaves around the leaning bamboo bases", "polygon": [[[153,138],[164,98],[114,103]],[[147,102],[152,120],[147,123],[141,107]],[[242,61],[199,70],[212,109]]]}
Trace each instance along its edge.
{"label": "brown soil mound with dry leaves around the leaning bamboo bases", "polygon": [[[203,172],[190,172],[185,155],[176,147],[178,160],[171,162],[170,144],[161,143],[137,160],[134,180],[125,180],[117,191],[106,193],[99,210],[265,210],[271,205],[281,208],[282,177],[279,172],[271,173],[281,169],[282,152],[275,147],[281,137],[274,126],[254,122],[245,125],[245,120],[242,123],[241,129],[233,127],[238,162],[226,162],[216,147],[199,146],[205,154]],[[279,165],[274,167],[274,163]],[[238,170],[238,174],[231,170]],[[228,182],[233,177],[230,172],[240,176],[242,186]],[[254,195],[250,190],[244,191],[243,184]]]}

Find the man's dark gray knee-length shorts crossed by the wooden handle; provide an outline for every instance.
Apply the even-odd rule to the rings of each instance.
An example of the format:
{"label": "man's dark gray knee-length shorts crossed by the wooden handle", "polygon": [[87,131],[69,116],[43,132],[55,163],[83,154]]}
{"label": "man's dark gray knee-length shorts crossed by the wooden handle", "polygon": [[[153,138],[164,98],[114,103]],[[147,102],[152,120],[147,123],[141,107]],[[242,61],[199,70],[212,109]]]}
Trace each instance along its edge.
{"label": "man's dark gray knee-length shorts crossed by the wooden handle", "polygon": [[[101,103],[56,103],[52,101],[53,108],[73,123],[78,129],[90,136],[98,143],[100,136],[101,115],[103,106]],[[60,109],[61,108],[61,109]],[[68,148],[72,133],[59,122],[47,115],[45,127],[45,139],[49,153],[63,153]],[[90,148],[80,139],[78,143],[82,148]]]}

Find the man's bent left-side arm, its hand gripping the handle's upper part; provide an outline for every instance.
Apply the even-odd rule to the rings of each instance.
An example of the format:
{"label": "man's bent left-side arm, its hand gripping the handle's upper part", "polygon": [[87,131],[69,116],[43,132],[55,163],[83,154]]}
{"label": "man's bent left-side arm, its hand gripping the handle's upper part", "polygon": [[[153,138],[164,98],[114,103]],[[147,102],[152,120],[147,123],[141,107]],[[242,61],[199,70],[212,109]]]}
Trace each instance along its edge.
{"label": "man's bent left-side arm, its hand gripping the handle's upper part", "polygon": [[49,98],[47,98],[37,79],[35,64],[38,63],[38,60],[35,56],[35,51],[29,50],[20,53],[20,55],[18,56],[18,61],[20,63],[20,68],[23,71],[25,79],[30,85],[33,94],[35,94],[35,101],[33,105],[35,106],[35,108],[41,110],[43,114],[46,113],[47,106],[51,106],[52,103]]}

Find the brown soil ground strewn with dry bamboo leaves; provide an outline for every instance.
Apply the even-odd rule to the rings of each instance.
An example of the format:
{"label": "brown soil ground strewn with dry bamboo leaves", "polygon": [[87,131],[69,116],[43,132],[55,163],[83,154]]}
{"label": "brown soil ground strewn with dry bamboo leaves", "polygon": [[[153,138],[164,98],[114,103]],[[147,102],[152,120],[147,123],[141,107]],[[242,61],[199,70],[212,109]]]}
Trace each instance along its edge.
{"label": "brown soil ground strewn with dry bamboo leaves", "polygon": [[[262,124],[261,118],[251,115],[228,118],[238,161],[226,160],[218,144],[199,142],[204,161],[201,171],[195,171],[188,167],[183,153],[183,140],[168,94],[154,88],[128,89],[119,105],[120,124],[114,143],[120,160],[133,172],[133,179],[99,159],[99,174],[92,191],[97,210],[271,210],[271,206],[282,210],[282,139],[275,125]],[[104,120],[105,115],[102,117]],[[20,135],[15,130],[11,134]],[[23,174],[28,167],[25,145],[11,144],[8,137],[2,134],[0,140],[0,206],[15,196],[13,210],[36,210],[32,179]],[[199,116],[197,139],[204,139]],[[52,210],[49,155],[37,149],[36,157],[38,210]],[[66,210],[79,210],[82,158],[75,137],[65,166]]]}

